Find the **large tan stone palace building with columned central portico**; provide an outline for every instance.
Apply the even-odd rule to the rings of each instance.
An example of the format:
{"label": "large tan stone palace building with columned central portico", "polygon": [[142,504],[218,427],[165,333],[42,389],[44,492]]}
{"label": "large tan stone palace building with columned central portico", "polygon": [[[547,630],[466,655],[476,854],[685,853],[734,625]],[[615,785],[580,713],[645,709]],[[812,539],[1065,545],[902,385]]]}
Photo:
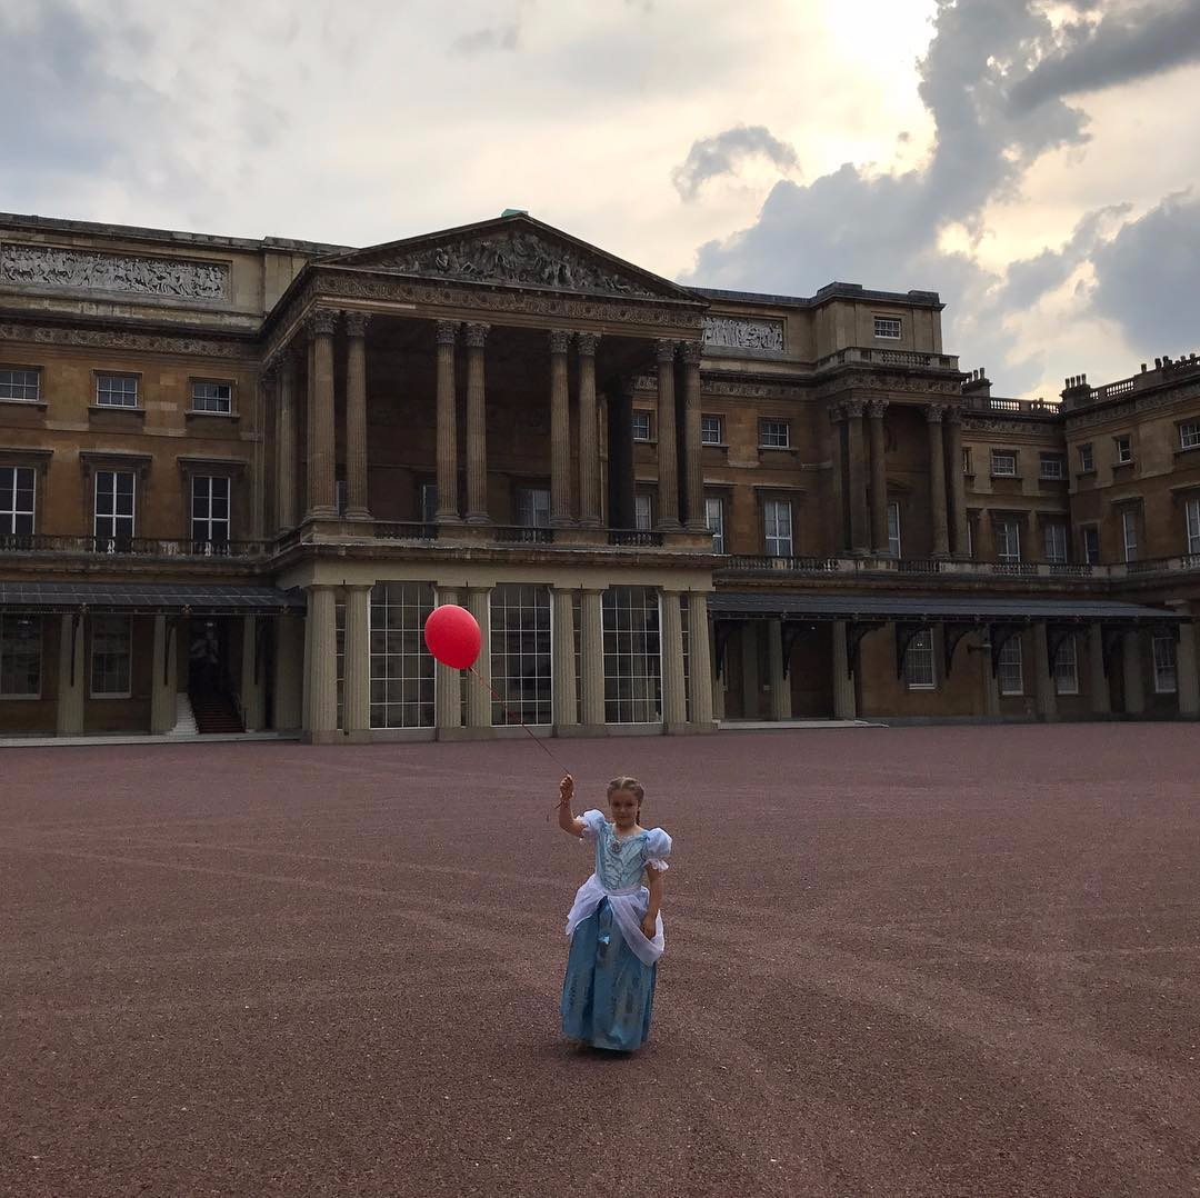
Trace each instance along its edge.
{"label": "large tan stone palace building with columned central portico", "polygon": [[1000,399],[941,312],[0,216],[0,736],[1196,718],[1200,361]]}

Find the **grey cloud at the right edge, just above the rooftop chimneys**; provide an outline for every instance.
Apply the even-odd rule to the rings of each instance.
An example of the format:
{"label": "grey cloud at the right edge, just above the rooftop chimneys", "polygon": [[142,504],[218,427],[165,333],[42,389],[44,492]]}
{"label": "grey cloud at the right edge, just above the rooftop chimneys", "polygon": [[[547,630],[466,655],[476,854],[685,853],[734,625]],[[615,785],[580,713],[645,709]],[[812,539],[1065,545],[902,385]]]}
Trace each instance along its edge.
{"label": "grey cloud at the right edge, just above the rooftop chimneys", "polygon": [[1200,196],[1168,196],[1092,254],[1092,307],[1142,353],[1200,351]]}

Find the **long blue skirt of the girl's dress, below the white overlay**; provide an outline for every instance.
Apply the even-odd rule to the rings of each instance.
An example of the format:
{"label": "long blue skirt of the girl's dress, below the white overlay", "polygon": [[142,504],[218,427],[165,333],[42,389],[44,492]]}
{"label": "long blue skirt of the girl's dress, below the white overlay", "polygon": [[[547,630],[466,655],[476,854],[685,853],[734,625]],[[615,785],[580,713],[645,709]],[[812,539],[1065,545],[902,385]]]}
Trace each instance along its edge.
{"label": "long blue skirt of the girl's dress, below the white overlay", "polygon": [[563,980],[563,1035],[593,1048],[631,1053],[650,1037],[658,965],[644,965],[625,944],[608,900],[571,939]]}

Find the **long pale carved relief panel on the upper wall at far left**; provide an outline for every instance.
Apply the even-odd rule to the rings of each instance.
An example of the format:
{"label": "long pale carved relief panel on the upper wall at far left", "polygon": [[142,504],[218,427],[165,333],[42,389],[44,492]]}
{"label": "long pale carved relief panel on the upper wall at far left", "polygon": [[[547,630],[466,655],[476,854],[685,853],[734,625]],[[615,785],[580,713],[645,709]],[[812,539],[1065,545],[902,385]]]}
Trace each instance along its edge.
{"label": "long pale carved relief panel on the upper wall at far left", "polygon": [[0,283],[211,301],[228,296],[229,266],[6,241],[0,245]]}

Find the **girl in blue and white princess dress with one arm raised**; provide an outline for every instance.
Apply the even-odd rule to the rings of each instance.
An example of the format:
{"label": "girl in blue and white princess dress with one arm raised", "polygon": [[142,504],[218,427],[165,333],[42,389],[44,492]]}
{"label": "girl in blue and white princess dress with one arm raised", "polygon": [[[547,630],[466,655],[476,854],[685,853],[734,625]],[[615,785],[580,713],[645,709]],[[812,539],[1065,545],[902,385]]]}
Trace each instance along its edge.
{"label": "girl in blue and white princess dress with one arm raised", "polygon": [[571,814],[570,774],[558,791],[558,826],[595,846],[595,873],[576,892],[566,917],[571,951],[563,981],[563,1034],[629,1053],[650,1035],[671,837],[638,822],[644,792],[636,778],[608,783],[612,820],[596,810]]}

